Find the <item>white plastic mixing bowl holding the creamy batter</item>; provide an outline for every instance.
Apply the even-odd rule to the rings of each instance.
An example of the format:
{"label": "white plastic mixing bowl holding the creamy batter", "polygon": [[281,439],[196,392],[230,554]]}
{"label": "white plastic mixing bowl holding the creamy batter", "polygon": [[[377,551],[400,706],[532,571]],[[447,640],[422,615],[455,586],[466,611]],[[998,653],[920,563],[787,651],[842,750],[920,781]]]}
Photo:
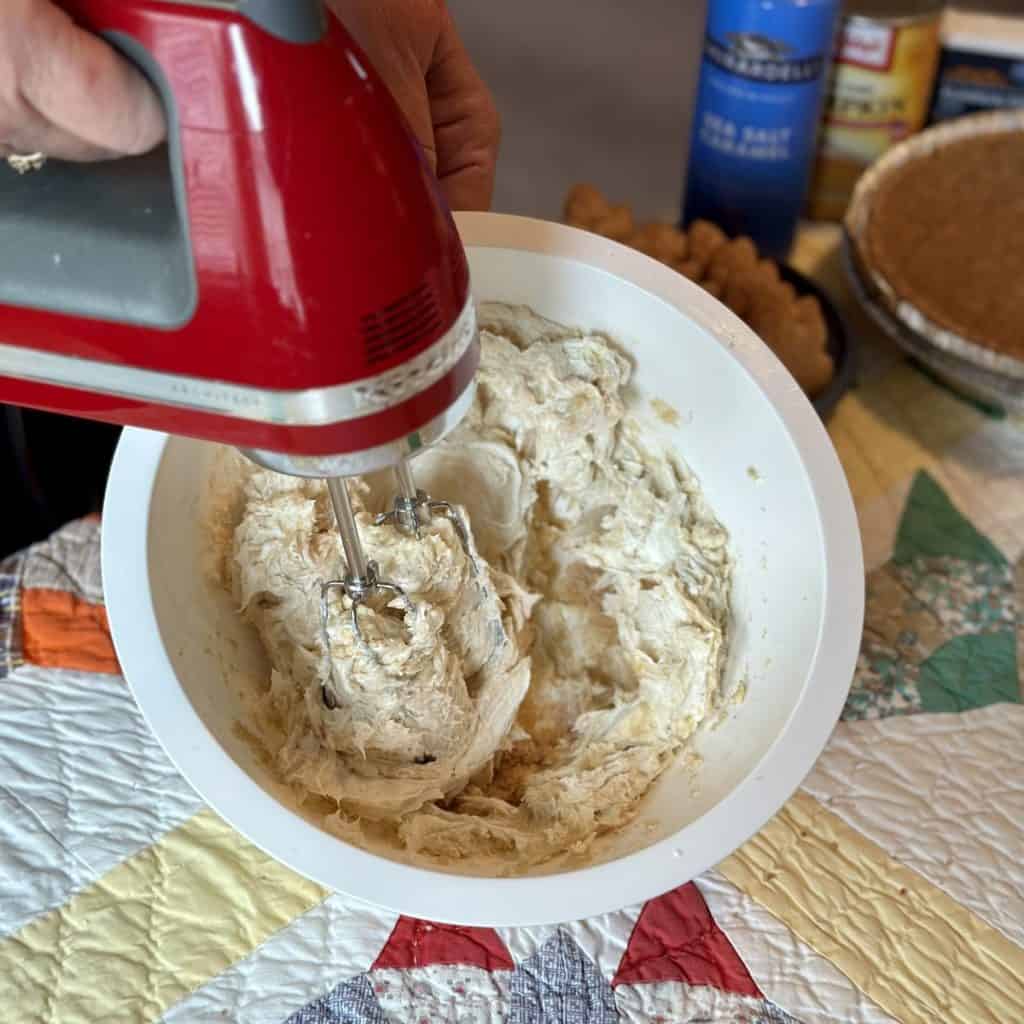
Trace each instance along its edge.
{"label": "white plastic mixing bowl holding the creamy batter", "polygon": [[[203,798],[257,846],[331,889],[465,925],[569,921],[650,898],[727,856],[787,800],[836,724],[863,616],[860,537],[821,423],[768,348],[681,274],[583,231],[459,218],[480,299],[608,333],[636,358],[638,412],[695,471],[735,555],[727,685],[748,695],[668,771],[593,866],[517,879],[425,870],[352,847],[295,809],[240,738],[239,680],[261,648],[201,564],[213,447],[125,432],[103,519],[114,640],[139,707]],[[673,421],[673,422],[667,422]],[[459,500],[458,495],[445,495]]]}

